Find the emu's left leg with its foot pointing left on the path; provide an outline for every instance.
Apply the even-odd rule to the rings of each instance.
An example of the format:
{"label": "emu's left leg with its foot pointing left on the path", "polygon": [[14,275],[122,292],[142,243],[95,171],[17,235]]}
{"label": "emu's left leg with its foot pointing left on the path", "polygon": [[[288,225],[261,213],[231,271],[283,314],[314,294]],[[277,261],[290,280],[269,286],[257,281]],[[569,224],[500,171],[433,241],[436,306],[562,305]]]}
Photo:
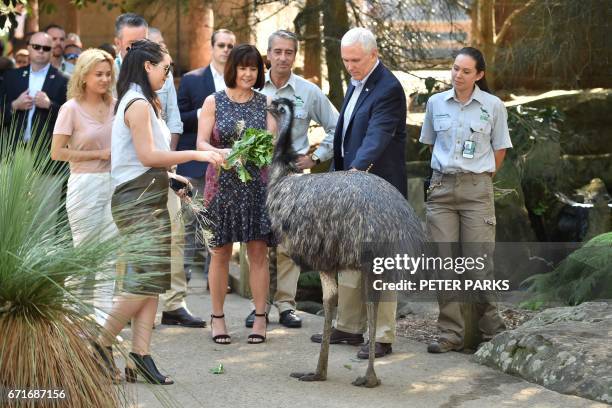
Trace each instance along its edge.
{"label": "emu's left leg with its foot pointing left on the path", "polygon": [[338,303],[338,284],[335,274],[321,272],[321,287],[323,289],[323,309],[325,310],[325,323],[323,324],[323,339],[319,362],[314,373],[291,373],[291,377],[300,381],[325,381],[327,379],[327,361],[329,357],[329,339],[331,337],[331,323],[334,310]]}

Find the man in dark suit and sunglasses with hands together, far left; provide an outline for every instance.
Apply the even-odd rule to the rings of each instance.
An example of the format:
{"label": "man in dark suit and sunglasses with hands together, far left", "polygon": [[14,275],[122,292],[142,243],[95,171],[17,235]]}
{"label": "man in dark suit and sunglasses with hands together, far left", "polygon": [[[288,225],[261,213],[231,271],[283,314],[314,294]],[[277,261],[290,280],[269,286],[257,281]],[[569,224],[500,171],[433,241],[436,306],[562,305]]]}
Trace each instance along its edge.
{"label": "man in dark suit and sunglasses with hands together, far left", "polygon": [[60,106],[66,102],[68,79],[50,64],[51,37],[39,32],[28,43],[30,65],[6,72],[0,87],[4,126],[15,126],[19,140],[51,146]]}

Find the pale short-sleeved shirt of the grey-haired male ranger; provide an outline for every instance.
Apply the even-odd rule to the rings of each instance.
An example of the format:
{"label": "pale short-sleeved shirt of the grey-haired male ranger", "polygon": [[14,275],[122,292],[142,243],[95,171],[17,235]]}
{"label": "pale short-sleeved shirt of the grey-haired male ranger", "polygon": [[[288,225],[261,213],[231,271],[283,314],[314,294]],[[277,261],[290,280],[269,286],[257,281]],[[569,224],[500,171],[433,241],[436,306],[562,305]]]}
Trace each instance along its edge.
{"label": "pale short-sleeved shirt of the grey-haired male ranger", "polygon": [[285,85],[276,88],[270,79],[270,71],[268,71],[261,93],[272,98],[287,98],[293,102],[291,144],[296,153],[306,154],[308,152],[310,147],[308,128],[310,121],[314,120],[325,129],[325,138],[314,154],[322,162],[334,155],[334,133],[338,123],[338,111],[318,86],[292,73]]}

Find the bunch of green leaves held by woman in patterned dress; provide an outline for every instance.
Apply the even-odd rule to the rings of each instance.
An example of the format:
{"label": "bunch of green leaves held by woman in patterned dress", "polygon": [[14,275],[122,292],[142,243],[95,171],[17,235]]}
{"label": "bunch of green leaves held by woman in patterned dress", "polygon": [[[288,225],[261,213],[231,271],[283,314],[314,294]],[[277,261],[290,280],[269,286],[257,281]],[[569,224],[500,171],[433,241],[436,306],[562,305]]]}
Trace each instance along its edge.
{"label": "bunch of green leaves held by woman in patterned dress", "polygon": [[262,168],[272,163],[274,145],[272,133],[263,129],[247,128],[242,137],[234,142],[232,151],[223,165],[225,170],[235,169],[243,183],[253,177],[247,169],[247,164]]}

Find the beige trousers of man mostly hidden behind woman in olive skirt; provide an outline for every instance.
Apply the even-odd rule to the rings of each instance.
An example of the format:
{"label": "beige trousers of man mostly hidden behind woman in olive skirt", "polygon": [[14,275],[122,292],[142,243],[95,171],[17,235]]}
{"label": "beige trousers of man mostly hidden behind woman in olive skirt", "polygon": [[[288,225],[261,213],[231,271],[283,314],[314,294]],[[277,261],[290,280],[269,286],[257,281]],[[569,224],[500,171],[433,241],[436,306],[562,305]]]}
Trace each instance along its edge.
{"label": "beige trousers of man mostly hidden behind woman in olive skirt", "polygon": [[172,227],[172,243],[170,245],[170,290],[162,295],[164,311],[172,311],[178,308],[187,308],[185,298],[187,297],[187,280],[185,278],[185,267],[183,263],[183,249],[185,244],[185,228],[182,217],[179,217],[181,199],[174,190],[168,189],[168,212],[170,213],[170,225]]}

